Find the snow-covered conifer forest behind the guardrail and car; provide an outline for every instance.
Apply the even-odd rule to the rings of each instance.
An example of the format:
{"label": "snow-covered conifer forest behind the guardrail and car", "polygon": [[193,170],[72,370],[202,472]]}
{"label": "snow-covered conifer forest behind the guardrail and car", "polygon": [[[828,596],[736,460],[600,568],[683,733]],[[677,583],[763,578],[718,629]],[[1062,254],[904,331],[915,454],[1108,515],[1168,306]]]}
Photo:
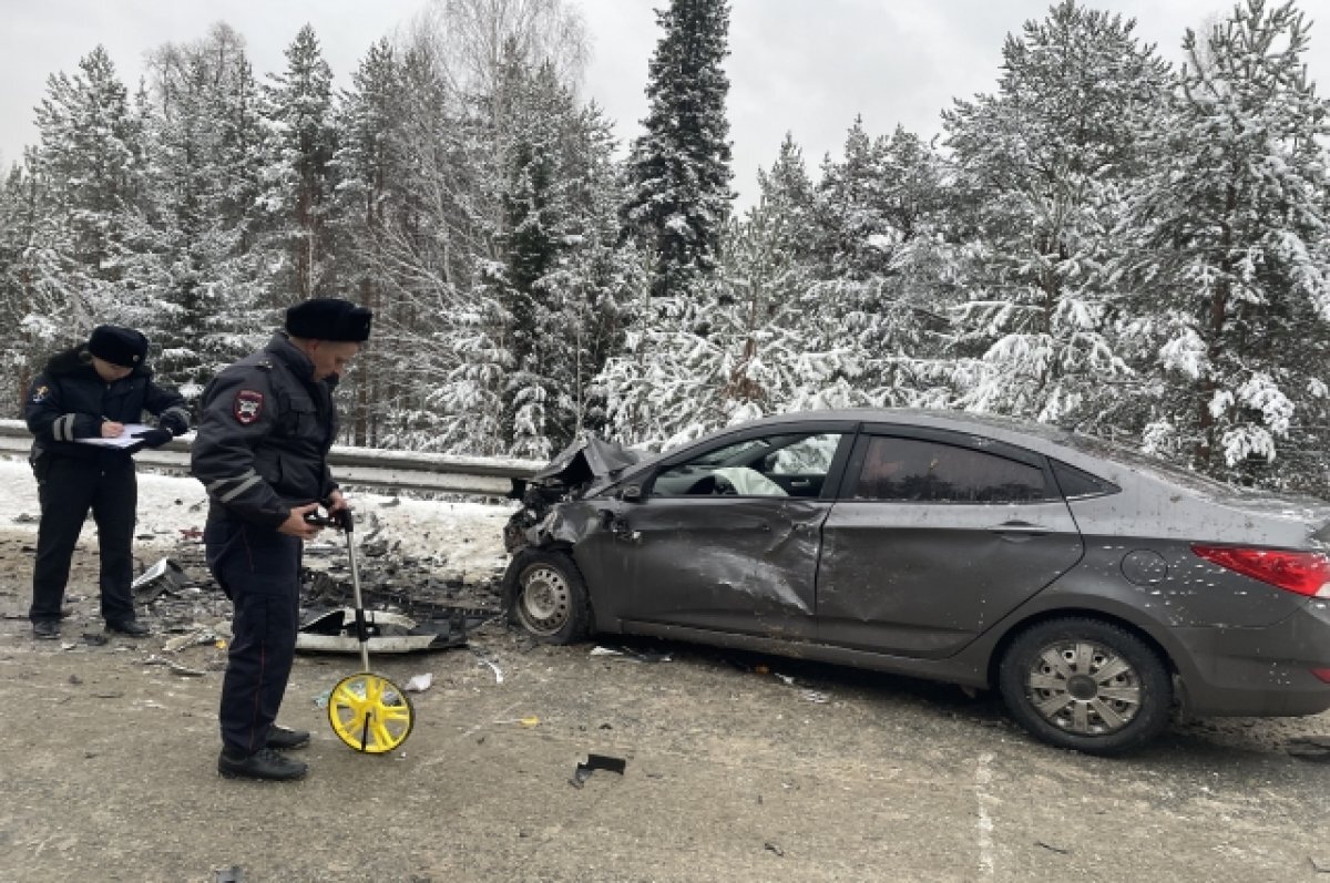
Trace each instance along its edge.
{"label": "snow-covered conifer forest behind the guardrail and car", "polygon": [[270,73],[225,24],[138,82],[97,47],[53,73],[0,178],[5,416],[101,322],[193,398],[329,294],[376,313],[348,444],[544,457],[962,408],[1330,493],[1330,104],[1295,3],[1241,0],[1170,64],[1065,0],[940,137],[787,137],[742,213],[728,3],[662,4],[625,145],[577,97],[573,5],[520,5],[439,3],[344,90],[309,27]]}

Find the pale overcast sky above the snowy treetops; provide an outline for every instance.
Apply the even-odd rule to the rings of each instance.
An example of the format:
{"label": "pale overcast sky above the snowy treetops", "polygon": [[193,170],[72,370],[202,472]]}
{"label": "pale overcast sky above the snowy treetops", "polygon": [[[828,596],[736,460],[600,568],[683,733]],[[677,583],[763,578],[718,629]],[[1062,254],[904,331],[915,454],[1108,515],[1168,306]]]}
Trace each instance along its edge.
{"label": "pale overcast sky above the snowy treetops", "polygon": [[[281,70],[283,49],[314,27],[338,86],[370,44],[406,24],[428,0],[0,0],[0,162],[36,141],[32,108],[48,74],[72,72],[101,44],[121,78],[137,84],[144,53],[202,39],[226,21],[246,40],[258,74]],[[626,142],[646,110],[642,86],[666,0],[568,0],[580,7],[593,57],[584,93],[617,121]],[[871,134],[898,124],[939,132],[952,98],[992,92],[1007,33],[1047,16],[1045,0],[733,0],[730,137],[734,188],[753,197],[758,166],[770,166],[785,132],[810,170],[838,153],[862,114]],[[1095,8],[1137,20],[1137,35],[1169,61],[1181,60],[1186,28],[1224,17],[1232,0],[1100,0]],[[1323,0],[1302,0],[1314,17]],[[1311,78],[1330,89],[1330,15],[1311,28]]]}

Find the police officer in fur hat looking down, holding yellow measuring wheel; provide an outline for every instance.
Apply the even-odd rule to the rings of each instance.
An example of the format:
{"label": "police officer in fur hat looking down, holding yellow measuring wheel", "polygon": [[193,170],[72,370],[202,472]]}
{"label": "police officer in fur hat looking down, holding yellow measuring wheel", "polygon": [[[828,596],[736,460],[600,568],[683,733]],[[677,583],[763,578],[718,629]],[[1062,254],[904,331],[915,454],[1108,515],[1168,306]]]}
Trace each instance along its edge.
{"label": "police officer in fur hat looking down, holding yellow measuring wheel", "polygon": [[286,311],[286,330],[223,370],[203,391],[193,472],[207,488],[207,565],[235,608],[219,709],[225,777],[297,779],[306,765],[279,750],[310,734],[277,726],[299,626],[301,553],[346,500],[329,472],[338,431],[332,391],[372,314],[315,298]]}

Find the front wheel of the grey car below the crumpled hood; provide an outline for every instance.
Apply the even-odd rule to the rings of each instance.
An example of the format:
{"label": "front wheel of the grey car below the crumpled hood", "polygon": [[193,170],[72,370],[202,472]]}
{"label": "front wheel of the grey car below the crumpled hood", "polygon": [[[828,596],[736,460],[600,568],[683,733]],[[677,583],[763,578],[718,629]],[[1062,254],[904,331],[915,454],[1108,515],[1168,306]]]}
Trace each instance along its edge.
{"label": "front wheel of the grey car below the crumpled hood", "polygon": [[563,552],[524,549],[508,565],[508,618],[543,644],[572,644],[591,630],[587,584]]}

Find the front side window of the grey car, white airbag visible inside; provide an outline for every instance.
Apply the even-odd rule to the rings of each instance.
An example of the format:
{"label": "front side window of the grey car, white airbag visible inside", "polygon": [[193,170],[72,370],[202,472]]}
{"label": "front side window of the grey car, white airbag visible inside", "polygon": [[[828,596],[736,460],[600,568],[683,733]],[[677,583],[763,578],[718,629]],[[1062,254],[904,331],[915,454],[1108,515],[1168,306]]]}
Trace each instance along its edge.
{"label": "front side window of the grey car, white airbag visible inside", "polygon": [[732,443],[665,469],[656,476],[652,496],[817,497],[839,443],[839,432]]}

